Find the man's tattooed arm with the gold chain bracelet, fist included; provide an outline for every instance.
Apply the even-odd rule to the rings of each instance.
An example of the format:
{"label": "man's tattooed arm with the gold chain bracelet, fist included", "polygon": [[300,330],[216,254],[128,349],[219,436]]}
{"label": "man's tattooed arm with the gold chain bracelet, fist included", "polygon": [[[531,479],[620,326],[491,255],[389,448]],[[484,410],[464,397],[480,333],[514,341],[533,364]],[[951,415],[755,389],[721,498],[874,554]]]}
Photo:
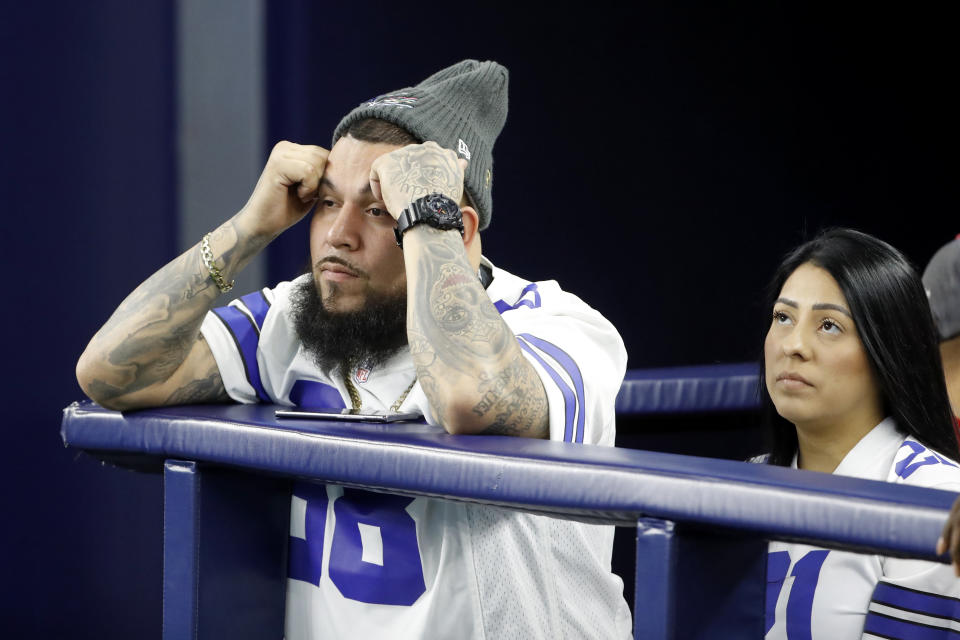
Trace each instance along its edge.
{"label": "man's tattooed arm with the gold chain bracelet, fist included", "polygon": [[[229,282],[271,240],[313,206],[327,152],[278,143],[253,195],[210,236],[215,264]],[[77,380],[111,409],[227,401],[200,325],[220,295],[200,245],[131,293],[87,345]]]}

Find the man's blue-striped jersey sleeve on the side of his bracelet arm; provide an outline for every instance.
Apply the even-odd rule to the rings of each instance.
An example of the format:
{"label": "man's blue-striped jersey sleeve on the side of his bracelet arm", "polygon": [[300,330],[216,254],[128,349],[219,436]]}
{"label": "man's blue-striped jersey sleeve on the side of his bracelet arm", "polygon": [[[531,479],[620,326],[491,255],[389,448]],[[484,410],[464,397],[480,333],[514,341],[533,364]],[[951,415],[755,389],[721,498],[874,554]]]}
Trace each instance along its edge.
{"label": "man's blue-striped jersey sleeve on the side of his bracelet arm", "polygon": [[207,313],[200,333],[210,345],[223,386],[242,403],[273,402],[261,375],[260,334],[273,292],[255,291]]}

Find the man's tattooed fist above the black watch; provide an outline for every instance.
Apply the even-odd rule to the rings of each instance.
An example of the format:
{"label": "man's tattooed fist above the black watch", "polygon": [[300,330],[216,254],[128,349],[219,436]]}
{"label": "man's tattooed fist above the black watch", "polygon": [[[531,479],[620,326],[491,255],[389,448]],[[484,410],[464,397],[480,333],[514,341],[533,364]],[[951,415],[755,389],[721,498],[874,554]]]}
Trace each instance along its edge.
{"label": "man's tattooed fist above the black watch", "polygon": [[377,158],[370,167],[374,197],[383,200],[394,219],[411,202],[430,193],[442,193],[454,202],[463,196],[466,160],[436,142],[411,144]]}

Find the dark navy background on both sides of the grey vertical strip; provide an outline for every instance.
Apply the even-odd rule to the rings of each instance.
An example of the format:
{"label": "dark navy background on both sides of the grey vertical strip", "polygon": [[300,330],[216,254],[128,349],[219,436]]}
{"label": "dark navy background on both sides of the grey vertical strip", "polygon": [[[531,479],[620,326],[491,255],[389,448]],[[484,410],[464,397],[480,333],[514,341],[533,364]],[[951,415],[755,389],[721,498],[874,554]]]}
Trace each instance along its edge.
{"label": "dark navy background on both sides of the grey vertical strip", "polygon": [[[608,315],[632,367],[751,358],[763,283],[823,225],[920,263],[960,231],[944,16],[354,4],[269,3],[268,140],[326,145],[366,98],[464,57],[503,62],[486,253]],[[173,7],[90,6],[0,13],[3,267],[21,314],[3,321],[11,637],[159,636],[159,479],[75,458],[57,431],[86,341],[176,252]],[[271,247],[272,279],[300,266],[304,233]]]}

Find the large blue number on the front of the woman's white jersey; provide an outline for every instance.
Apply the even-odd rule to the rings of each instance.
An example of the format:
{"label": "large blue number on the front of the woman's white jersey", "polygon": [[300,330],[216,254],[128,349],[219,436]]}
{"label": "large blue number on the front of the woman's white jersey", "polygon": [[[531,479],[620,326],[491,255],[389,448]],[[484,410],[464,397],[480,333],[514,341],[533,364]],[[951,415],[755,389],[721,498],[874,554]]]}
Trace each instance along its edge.
{"label": "large blue number on the front of the woman's white jersey", "polygon": [[[793,586],[787,598],[788,640],[810,640],[810,617],[813,612],[813,593],[817,590],[820,569],[826,560],[826,549],[808,551],[793,565]],[[766,634],[776,622],[777,600],[790,569],[790,553],[774,551],[767,555]]]}

